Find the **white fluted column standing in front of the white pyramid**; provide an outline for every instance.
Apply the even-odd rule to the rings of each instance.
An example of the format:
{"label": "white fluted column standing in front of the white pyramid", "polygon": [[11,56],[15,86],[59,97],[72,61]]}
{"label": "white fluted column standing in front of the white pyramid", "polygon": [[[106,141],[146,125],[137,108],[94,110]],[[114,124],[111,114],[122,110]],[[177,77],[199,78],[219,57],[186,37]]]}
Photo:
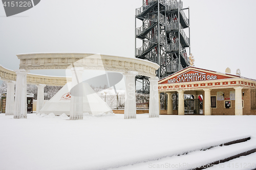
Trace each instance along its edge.
{"label": "white fluted column standing in front of the white pyramid", "polygon": [[70,90],[70,120],[83,119],[82,67],[71,68],[72,89]]}

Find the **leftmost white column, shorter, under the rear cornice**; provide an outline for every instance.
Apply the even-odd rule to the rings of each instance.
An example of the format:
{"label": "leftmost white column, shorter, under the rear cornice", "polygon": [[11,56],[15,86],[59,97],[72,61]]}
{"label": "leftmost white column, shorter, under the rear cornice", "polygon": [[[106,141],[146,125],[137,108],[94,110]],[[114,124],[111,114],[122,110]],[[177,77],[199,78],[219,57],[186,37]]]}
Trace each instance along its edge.
{"label": "leftmost white column, shorter, under the rear cornice", "polygon": [[7,82],[5,115],[14,115],[14,81]]}

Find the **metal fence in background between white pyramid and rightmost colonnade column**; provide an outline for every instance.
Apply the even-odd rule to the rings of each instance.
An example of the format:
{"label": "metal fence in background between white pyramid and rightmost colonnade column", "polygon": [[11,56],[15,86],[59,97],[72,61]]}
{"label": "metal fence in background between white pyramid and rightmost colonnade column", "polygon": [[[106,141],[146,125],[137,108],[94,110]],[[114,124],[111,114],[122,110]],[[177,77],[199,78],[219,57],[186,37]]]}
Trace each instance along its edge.
{"label": "metal fence in background between white pyramid and rightmost colonnade column", "polygon": [[[111,109],[124,109],[124,94],[116,95],[99,95],[99,97],[109,105]],[[136,94],[136,109],[148,109],[150,102],[150,94]]]}

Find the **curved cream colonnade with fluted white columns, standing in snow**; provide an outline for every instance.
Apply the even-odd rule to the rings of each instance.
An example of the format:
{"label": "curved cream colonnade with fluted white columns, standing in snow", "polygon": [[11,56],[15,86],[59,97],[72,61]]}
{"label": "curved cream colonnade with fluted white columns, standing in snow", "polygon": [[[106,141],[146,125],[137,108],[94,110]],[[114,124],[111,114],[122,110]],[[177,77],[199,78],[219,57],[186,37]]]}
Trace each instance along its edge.
{"label": "curved cream colonnade with fluted white columns, standing in snow", "polygon": [[[28,70],[71,68],[122,72],[125,76],[126,91],[130,91],[133,94],[135,94],[135,76],[142,75],[150,77],[150,100],[152,103],[150,105],[150,117],[159,117],[158,78],[156,77],[156,70],[159,68],[159,65],[156,63],[137,58],[86,53],[30,53],[18,54],[17,57],[20,60],[18,70],[9,70],[0,66],[0,78],[8,81],[8,84],[13,84],[16,81],[16,91],[19,91],[16,94],[15,107],[14,101],[12,101],[14,96],[7,92],[9,98],[7,98],[6,103],[6,114],[14,114],[14,118],[27,117],[27,112],[24,109],[25,106],[23,106],[26,101],[25,84],[35,84],[38,90],[44,90],[42,87],[45,85],[64,86],[66,83],[74,82],[75,80],[74,76],[72,78],[66,78],[28,74]],[[44,100],[43,96],[41,98],[38,99],[38,103],[42,103],[40,100]],[[37,107],[38,110],[41,107]],[[16,108],[16,110],[14,111],[13,108]],[[136,118],[136,99],[134,95],[126,95],[124,117]]]}

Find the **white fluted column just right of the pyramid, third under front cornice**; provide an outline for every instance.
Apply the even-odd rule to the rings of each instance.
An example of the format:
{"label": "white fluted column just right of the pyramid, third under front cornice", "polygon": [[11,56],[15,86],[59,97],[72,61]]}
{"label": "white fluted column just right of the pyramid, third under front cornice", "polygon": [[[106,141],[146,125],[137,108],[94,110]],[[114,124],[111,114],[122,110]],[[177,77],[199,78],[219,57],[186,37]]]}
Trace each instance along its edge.
{"label": "white fluted column just right of the pyramid, third under front cornice", "polygon": [[125,103],[124,103],[124,118],[136,118],[136,88],[135,76],[138,75],[136,71],[127,71],[125,77]]}

